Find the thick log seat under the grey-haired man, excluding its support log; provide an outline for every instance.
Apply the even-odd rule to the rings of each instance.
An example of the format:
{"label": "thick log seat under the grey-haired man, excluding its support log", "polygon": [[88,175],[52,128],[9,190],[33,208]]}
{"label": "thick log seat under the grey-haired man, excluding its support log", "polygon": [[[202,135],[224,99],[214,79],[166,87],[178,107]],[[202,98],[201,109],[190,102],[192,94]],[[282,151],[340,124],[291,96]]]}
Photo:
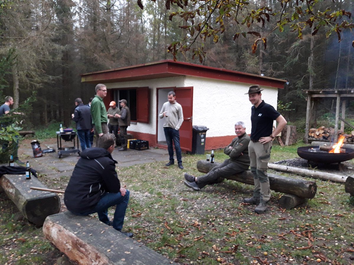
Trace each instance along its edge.
{"label": "thick log seat under the grey-haired man, excluding its support log", "polygon": [[[214,166],[219,163],[210,163],[208,161],[199,160],[197,169],[199,172],[208,173]],[[302,179],[282,177],[278,175],[268,174],[270,189],[275,192],[289,193],[300,198],[312,199],[316,195],[317,185],[313,181],[304,181]],[[247,170],[239,174],[225,177],[241,183],[254,185],[253,175]]]}

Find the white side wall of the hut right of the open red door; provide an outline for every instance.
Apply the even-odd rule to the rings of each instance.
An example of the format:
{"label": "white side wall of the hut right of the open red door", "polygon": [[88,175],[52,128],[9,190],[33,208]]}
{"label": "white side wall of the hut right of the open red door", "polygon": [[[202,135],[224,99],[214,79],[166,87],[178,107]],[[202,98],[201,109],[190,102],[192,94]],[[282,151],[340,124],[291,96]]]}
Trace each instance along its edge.
{"label": "white side wall of the hut right of the open red door", "polygon": [[[207,137],[234,135],[234,124],[243,121],[251,133],[251,107],[248,92],[251,84],[186,77],[185,86],[193,86],[193,125],[209,128]],[[262,99],[276,109],[278,89],[264,87]]]}

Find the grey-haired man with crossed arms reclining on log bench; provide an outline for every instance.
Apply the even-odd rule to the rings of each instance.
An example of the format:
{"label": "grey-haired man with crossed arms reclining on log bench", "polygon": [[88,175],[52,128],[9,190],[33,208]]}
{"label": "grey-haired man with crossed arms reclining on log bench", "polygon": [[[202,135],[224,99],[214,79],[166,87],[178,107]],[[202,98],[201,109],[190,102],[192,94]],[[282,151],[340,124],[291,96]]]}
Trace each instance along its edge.
{"label": "grey-haired man with crossed arms reclining on log bench", "polygon": [[209,173],[201,177],[194,177],[184,173],[184,185],[194,190],[200,190],[205,185],[213,183],[219,177],[232,176],[249,168],[248,144],[250,143],[250,137],[246,134],[244,122],[235,123],[235,133],[237,137],[224,148],[224,153],[230,158],[213,167]]}

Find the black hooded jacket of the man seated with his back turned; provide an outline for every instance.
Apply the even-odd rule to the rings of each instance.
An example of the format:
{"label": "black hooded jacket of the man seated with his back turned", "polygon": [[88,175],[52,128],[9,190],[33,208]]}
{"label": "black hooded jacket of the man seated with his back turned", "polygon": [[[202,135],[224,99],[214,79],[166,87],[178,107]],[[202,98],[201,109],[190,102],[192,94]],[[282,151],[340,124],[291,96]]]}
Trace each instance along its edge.
{"label": "black hooded jacket of the man seated with his back turned", "polygon": [[64,194],[64,203],[73,213],[91,211],[102,194],[120,191],[120,182],[115,171],[117,161],[107,150],[86,148],[80,157]]}

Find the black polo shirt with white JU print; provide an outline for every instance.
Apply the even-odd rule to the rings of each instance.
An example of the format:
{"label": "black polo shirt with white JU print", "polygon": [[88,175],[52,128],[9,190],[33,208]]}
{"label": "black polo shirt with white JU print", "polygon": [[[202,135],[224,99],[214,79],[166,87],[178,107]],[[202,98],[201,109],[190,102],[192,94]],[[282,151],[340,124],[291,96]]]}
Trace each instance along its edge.
{"label": "black polo shirt with white JU print", "polygon": [[251,108],[251,140],[258,140],[261,137],[270,136],[273,132],[273,121],[280,116],[272,105],[262,100],[261,104],[256,108]]}

